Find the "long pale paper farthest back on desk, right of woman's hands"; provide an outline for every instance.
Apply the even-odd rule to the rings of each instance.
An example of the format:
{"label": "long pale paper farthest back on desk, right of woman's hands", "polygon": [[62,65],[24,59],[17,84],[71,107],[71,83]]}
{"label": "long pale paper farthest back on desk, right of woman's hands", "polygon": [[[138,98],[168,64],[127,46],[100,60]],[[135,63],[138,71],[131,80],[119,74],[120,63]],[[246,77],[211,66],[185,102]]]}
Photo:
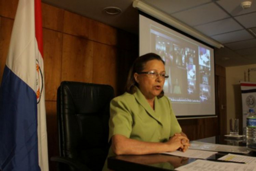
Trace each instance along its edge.
{"label": "long pale paper farthest back on desk, right of woman's hands", "polygon": [[247,147],[202,143],[202,142],[196,142],[196,141],[190,142],[189,148],[215,151],[215,152],[229,152],[229,153],[241,153],[241,154],[250,153],[250,150],[248,150]]}

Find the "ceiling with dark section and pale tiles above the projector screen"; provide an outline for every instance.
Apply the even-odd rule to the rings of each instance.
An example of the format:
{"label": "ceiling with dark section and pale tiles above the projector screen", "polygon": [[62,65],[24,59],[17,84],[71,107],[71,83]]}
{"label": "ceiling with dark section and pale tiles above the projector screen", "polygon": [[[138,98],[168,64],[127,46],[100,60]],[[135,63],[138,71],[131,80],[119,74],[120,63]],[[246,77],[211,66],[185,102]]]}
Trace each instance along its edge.
{"label": "ceiling with dark section and pale tiles above the projector screen", "polygon": [[[43,0],[44,3],[95,19],[96,21],[138,34],[139,16],[132,7],[134,0]],[[171,15],[182,23],[220,42],[215,49],[215,63],[223,66],[256,64],[256,1],[248,9],[245,0],[140,0]],[[115,6],[118,15],[103,9]],[[249,30],[254,29],[254,34]]]}

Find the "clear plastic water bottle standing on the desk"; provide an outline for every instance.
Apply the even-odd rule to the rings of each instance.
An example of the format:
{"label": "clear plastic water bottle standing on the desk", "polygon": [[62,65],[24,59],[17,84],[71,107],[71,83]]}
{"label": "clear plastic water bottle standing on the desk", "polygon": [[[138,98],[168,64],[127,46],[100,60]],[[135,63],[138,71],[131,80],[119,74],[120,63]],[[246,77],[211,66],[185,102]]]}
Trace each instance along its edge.
{"label": "clear plastic water bottle standing on the desk", "polygon": [[252,147],[256,143],[256,114],[253,109],[249,109],[249,114],[247,115],[247,146]]}

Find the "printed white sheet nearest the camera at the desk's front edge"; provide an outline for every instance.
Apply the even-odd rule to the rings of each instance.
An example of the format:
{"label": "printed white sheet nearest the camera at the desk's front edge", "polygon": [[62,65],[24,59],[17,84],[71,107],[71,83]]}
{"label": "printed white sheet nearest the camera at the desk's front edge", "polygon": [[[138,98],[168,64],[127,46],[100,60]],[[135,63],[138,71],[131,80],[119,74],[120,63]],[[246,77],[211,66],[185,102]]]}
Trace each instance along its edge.
{"label": "printed white sheet nearest the camera at the desk's front edge", "polygon": [[239,163],[212,162],[209,160],[195,160],[195,162],[175,168],[175,170],[178,170],[178,171],[210,171],[210,170],[256,171],[256,168],[253,165],[245,165],[245,164],[239,164]]}

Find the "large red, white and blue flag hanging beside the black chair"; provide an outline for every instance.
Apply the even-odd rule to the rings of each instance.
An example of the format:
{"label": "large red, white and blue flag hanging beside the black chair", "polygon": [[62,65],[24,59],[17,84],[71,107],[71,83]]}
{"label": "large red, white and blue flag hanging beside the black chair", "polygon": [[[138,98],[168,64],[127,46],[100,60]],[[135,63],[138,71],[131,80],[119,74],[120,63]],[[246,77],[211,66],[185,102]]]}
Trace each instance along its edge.
{"label": "large red, white and blue flag hanging beside the black chair", "polygon": [[0,87],[0,170],[48,170],[41,0],[19,0]]}

